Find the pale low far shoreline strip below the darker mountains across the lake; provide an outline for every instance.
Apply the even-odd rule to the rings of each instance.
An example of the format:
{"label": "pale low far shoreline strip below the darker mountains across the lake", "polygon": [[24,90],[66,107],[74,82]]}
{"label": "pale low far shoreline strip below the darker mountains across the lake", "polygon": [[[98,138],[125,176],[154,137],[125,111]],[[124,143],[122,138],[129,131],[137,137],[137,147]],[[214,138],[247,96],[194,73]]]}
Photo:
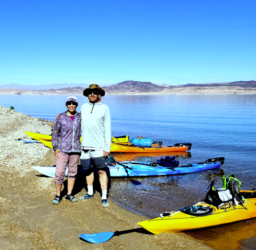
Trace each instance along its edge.
{"label": "pale low far shoreline strip below the darker mountains across the lake", "polygon": [[[108,95],[226,95],[226,94],[256,94],[255,87],[218,86],[218,87],[174,87],[160,91],[143,90],[107,90]],[[82,95],[82,90],[24,90],[0,89],[0,95]]]}

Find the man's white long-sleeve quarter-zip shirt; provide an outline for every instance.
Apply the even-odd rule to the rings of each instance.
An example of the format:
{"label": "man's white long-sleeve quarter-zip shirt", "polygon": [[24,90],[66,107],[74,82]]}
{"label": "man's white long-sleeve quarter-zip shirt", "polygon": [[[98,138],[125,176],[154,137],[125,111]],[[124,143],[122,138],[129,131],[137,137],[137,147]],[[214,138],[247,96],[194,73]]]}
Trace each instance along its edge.
{"label": "man's white long-sleeve quarter-zip shirt", "polygon": [[81,107],[82,148],[110,153],[111,118],[109,107],[101,102],[85,103]]}

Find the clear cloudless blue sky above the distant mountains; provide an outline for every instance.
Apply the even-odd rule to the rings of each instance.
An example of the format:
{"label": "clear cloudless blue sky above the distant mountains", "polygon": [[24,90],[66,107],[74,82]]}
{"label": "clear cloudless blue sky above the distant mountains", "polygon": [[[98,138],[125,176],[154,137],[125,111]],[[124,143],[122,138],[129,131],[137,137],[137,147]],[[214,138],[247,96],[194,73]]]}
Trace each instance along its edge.
{"label": "clear cloudless blue sky above the distant mountains", "polygon": [[0,3],[0,85],[256,80],[255,0]]}

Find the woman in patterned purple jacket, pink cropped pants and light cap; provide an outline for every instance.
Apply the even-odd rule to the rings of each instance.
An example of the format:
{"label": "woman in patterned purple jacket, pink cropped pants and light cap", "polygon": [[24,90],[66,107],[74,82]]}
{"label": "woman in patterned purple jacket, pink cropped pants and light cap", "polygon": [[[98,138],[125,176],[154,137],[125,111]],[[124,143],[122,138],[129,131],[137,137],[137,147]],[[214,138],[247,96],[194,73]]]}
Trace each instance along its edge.
{"label": "woman in patterned purple jacket, pink cropped pants and light cap", "polygon": [[68,110],[60,114],[52,134],[52,146],[56,158],[56,173],[54,177],[56,197],[53,199],[53,204],[56,205],[60,203],[60,191],[67,164],[68,194],[66,199],[71,202],[77,202],[76,197],[72,195],[72,190],[81,152],[81,114],[76,112],[78,106],[76,97],[68,97],[66,106]]}

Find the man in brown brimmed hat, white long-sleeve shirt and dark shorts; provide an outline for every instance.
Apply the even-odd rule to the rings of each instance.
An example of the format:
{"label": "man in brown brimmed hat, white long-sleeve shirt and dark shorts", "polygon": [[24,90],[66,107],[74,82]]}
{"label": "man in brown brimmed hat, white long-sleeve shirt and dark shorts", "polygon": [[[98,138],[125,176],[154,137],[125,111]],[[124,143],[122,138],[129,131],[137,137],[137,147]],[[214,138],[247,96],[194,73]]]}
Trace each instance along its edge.
{"label": "man in brown brimmed hat, white long-sleeve shirt and dark shorts", "polygon": [[85,200],[94,197],[93,168],[96,168],[100,175],[102,206],[108,207],[106,166],[108,166],[108,155],[111,148],[109,107],[101,103],[101,97],[104,97],[105,91],[97,84],[91,84],[83,94],[88,97],[89,102],[81,107],[82,151],[80,161],[82,169],[86,170],[88,193],[79,199]]}

